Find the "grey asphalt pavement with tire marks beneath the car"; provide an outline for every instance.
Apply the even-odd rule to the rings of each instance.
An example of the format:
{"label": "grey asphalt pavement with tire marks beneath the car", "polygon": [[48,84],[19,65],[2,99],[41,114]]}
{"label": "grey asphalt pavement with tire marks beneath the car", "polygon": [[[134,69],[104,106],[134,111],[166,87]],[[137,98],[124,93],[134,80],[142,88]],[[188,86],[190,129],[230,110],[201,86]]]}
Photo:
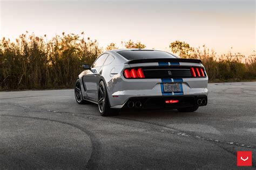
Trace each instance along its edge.
{"label": "grey asphalt pavement with tire marks beneath the car", "polygon": [[208,84],[196,112],[102,117],[73,90],[0,92],[0,169],[237,169],[256,167],[256,82]]}

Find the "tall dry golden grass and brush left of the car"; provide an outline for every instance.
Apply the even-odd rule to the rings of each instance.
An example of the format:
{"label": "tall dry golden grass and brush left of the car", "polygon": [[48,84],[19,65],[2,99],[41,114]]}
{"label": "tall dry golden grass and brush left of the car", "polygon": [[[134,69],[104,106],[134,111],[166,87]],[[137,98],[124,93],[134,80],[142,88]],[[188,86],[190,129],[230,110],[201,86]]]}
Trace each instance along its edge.
{"label": "tall dry golden grass and brush left of the car", "polygon": [[82,64],[92,62],[102,49],[96,40],[74,34],[53,37],[21,35],[16,42],[0,42],[0,86],[5,89],[72,87]]}

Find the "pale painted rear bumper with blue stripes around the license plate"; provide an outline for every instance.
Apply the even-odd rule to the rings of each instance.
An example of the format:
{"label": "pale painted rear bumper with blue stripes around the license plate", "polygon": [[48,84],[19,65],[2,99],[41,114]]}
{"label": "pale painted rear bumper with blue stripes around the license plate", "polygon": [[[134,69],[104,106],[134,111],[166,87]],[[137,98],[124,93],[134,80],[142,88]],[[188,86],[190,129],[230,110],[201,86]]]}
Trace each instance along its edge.
{"label": "pale painted rear bumper with blue stripes around the license plate", "polygon": [[207,96],[208,94],[208,78],[170,79],[170,81],[167,81],[167,83],[179,83],[180,92],[164,92],[164,83],[166,83],[164,79],[119,81],[108,92],[110,106],[112,108],[122,108],[130,98],[134,97]]}

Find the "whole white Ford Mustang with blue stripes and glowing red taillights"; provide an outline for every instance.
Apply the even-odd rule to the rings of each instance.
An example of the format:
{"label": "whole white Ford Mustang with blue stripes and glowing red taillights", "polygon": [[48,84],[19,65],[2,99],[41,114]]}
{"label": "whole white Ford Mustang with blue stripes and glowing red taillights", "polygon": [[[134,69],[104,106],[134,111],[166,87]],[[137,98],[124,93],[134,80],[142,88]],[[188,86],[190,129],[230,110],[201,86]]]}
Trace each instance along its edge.
{"label": "whole white Ford Mustang with blue stripes and glowing red taillights", "polygon": [[193,112],[207,105],[208,77],[201,60],[158,50],[106,51],[83,65],[75,85],[78,104],[98,104],[101,115],[120,109],[177,109]]}

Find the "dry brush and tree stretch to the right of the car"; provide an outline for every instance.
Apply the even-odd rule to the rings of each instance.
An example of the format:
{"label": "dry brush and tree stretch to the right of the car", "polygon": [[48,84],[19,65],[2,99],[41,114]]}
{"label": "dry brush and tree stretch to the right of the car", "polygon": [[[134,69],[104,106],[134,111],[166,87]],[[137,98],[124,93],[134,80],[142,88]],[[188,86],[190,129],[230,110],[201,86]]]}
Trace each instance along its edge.
{"label": "dry brush and tree stretch to the right of the car", "polygon": [[248,81],[256,79],[256,57],[250,57],[245,60],[239,57],[227,55],[216,56],[216,53],[210,51],[205,46],[203,49],[194,49],[190,58],[201,59],[206,68],[210,82],[225,81]]}

